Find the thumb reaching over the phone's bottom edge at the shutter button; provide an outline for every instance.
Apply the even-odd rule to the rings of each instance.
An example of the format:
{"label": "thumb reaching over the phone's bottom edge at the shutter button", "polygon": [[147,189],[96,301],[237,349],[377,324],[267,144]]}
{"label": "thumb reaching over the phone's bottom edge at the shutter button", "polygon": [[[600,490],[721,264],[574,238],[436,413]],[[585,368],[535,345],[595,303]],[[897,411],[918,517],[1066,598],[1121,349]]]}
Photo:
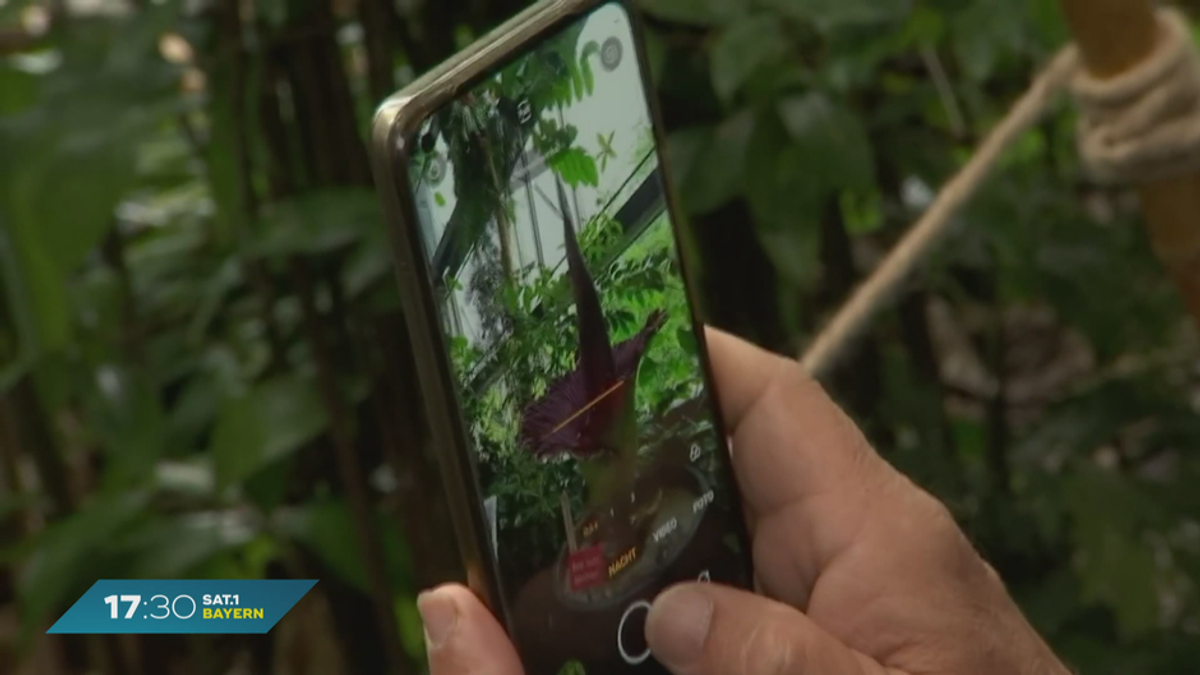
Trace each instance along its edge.
{"label": "thumb reaching over the phone's bottom edge at the shutter button", "polygon": [[674,675],[887,673],[796,609],[712,584],[684,584],[659,596],[646,639]]}

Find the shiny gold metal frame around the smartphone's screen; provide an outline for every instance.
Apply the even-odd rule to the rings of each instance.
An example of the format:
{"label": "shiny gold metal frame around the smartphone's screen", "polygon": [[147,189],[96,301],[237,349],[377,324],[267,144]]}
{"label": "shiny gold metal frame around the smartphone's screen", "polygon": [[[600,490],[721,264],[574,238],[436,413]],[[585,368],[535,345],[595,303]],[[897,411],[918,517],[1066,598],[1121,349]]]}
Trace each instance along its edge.
{"label": "shiny gold metal frame around the smartphone's screen", "polygon": [[[415,141],[415,135],[424,121],[442,106],[523,53],[539,37],[551,35],[556,29],[601,6],[612,4],[622,5],[632,22],[634,50],[643,74],[650,126],[658,148],[659,166],[664,172],[664,201],[671,214],[676,249],[680,257],[679,271],[688,293],[697,347],[702,354],[706,354],[701,362],[707,395],[714,412],[714,431],[722,441],[728,438],[724,420],[719,414],[720,406],[712,368],[707,358],[708,347],[704,340],[704,328],[697,316],[700,305],[696,304],[695,286],[689,275],[692,265],[686,259],[688,247],[684,245],[680,232],[684,219],[683,210],[678,207],[678,198],[671,181],[666,179],[670,175],[665,151],[666,138],[650,83],[650,70],[641,37],[640,19],[630,0],[542,0],[535,4],[384,101],[376,113],[371,130],[372,171],[383,201],[406,323],[413,344],[418,376],[430,418],[432,441],[437,448],[438,462],[442,468],[455,534],[467,572],[466,583],[510,629],[512,628],[511,616],[502,597],[499,571],[491,555],[482,498],[478,489],[475,458],[458,413],[460,401],[455,390],[454,374],[450,370],[449,359],[445,357],[448,352],[444,342],[445,336],[442,331],[442,319],[432,289],[428,262],[422,255],[424,247],[416,225],[416,204],[409,180],[408,148]],[[734,519],[738,525],[736,534],[742,542],[746,569],[751,571],[749,537],[740,513],[740,495],[737,484],[732,480],[732,464],[727,453],[718,452],[718,455],[720,455],[718,464],[721,465],[730,482],[728,489],[734,496],[734,503],[731,504],[731,508],[737,515]]]}

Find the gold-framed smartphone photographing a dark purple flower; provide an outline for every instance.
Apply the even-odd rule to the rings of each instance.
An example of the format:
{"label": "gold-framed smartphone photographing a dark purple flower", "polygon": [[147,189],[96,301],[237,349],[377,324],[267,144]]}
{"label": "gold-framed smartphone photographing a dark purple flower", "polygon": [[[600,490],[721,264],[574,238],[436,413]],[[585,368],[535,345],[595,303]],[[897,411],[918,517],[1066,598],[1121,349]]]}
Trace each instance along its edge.
{"label": "gold-framed smartphone photographing a dark purple flower", "polygon": [[665,673],[654,597],[752,583],[638,36],[546,1],[374,120],[467,583],[530,675]]}

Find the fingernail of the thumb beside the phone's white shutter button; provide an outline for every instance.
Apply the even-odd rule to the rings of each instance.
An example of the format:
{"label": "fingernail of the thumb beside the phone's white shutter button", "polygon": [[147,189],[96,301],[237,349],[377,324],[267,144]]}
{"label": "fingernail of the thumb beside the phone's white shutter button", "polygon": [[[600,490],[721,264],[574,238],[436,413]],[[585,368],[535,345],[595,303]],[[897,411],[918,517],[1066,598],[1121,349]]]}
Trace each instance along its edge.
{"label": "fingernail of the thumb beside the phone's white shutter button", "polygon": [[701,658],[713,622],[713,601],[696,586],[670,589],[654,601],[646,617],[646,640],[665,665]]}

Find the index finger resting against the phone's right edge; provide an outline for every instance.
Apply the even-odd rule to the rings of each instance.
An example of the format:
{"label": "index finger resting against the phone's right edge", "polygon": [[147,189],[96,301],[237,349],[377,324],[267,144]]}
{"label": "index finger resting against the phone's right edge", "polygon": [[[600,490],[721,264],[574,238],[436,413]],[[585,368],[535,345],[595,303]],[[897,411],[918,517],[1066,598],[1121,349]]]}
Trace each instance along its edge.
{"label": "index finger resting against the phone's right edge", "polygon": [[800,364],[707,331],[763,590],[805,607],[895,472]]}

